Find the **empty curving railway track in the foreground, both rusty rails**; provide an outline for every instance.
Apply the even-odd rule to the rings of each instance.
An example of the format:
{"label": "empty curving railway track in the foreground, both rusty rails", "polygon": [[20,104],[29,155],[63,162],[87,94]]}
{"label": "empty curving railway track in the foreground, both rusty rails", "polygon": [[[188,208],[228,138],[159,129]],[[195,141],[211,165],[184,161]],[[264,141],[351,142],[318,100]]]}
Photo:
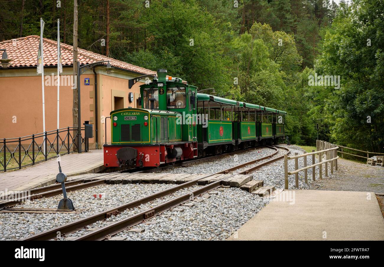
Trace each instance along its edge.
{"label": "empty curving railway track in the foreground, both rusty rails", "polygon": [[[126,209],[132,209],[132,208],[138,207],[141,204],[146,204],[152,200],[159,199],[161,197],[170,195],[174,192],[177,192],[180,189],[185,189],[187,187],[191,187],[193,185],[196,185],[197,182],[201,179],[204,179],[204,178],[210,177],[212,175],[216,175],[216,174],[228,174],[230,172],[235,172],[236,170],[242,169],[243,167],[246,167],[247,165],[253,165],[257,162],[266,160],[260,164],[252,166],[246,170],[241,170],[240,172],[233,173],[229,177],[235,176],[237,174],[248,174],[248,173],[253,172],[257,169],[260,169],[261,167],[263,167],[267,164],[275,162],[276,160],[282,159],[284,157],[284,155],[274,157],[276,154],[278,154],[278,149],[276,147],[279,147],[279,146],[270,147],[271,149],[275,149],[276,151],[270,155],[265,156],[265,157],[262,157],[262,158],[259,158],[256,160],[251,160],[251,161],[246,162],[244,164],[239,164],[235,167],[230,167],[226,170],[216,172],[215,174],[204,175],[203,177],[199,177],[197,179],[191,180],[190,182],[176,185],[174,187],[171,187],[170,189],[162,190],[162,191],[157,192],[155,194],[151,194],[151,195],[148,195],[148,196],[143,197],[141,199],[137,199],[137,200],[128,202],[126,204],[120,205],[119,207],[114,207],[112,209],[108,209],[108,210],[105,210],[103,212],[99,212],[98,214],[94,214],[94,215],[91,215],[89,217],[79,219],[79,220],[76,220],[74,222],[70,222],[68,224],[64,224],[64,225],[55,227],[55,228],[47,230],[45,232],[31,235],[30,237],[26,237],[22,240],[57,239],[58,233],[61,236],[65,236],[66,234],[71,234],[71,233],[77,232],[81,229],[84,229],[84,227],[86,227],[87,225],[91,225],[95,222],[105,220],[105,219],[109,218],[111,215],[116,216]],[[288,148],[285,148],[285,147],[279,147],[279,148],[287,150],[288,151],[287,153],[290,152],[290,150]],[[267,160],[267,159],[269,159],[269,160]],[[220,187],[221,182],[225,179],[228,179],[229,177],[226,176],[220,180],[212,182],[211,184],[204,185],[204,186],[202,186],[196,190],[193,190],[189,193],[183,194],[179,197],[175,197],[174,199],[170,199],[166,202],[163,202],[163,203],[161,203],[161,204],[159,204],[159,205],[157,205],[151,209],[146,209],[142,212],[139,212],[139,213],[136,213],[136,214],[131,215],[129,217],[126,217],[124,219],[118,220],[117,222],[113,222],[112,224],[106,225],[106,226],[101,227],[97,230],[89,232],[88,234],[84,234],[84,235],[81,235],[79,237],[76,237],[75,239],[72,239],[72,240],[105,240],[105,239],[108,239],[110,236],[115,235],[115,234],[122,232],[123,230],[127,229],[127,227],[132,227],[134,225],[137,225],[137,224],[143,222],[144,220],[151,219],[152,217],[154,217],[158,214],[161,214],[162,212],[164,212],[168,209],[177,207],[180,204],[188,202],[189,200],[191,200],[191,196],[193,199],[193,196],[203,195],[203,194],[209,192],[210,190],[213,190],[213,189]]]}

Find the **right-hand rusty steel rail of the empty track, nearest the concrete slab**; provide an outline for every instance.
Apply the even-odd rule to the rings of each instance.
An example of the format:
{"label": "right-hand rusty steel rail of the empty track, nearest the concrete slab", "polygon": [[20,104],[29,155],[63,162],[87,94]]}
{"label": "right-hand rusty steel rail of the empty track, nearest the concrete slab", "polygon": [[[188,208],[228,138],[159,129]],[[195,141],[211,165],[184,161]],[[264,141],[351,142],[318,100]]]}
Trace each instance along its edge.
{"label": "right-hand rusty steel rail of the empty track, nearest the concrete slab", "polygon": [[[287,148],[284,148],[284,147],[280,147],[280,148],[288,150],[288,153],[290,152],[290,150]],[[276,153],[277,153],[277,149],[276,149],[276,152],[273,153],[273,155],[275,155]],[[268,159],[273,155],[268,155],[266,157],[262,157],[259,160]],[[276,160],[281,159],[281,158],[282,157],[280,156],[280,157],[277,157],[275,159],[268,160],[267,162],[264,162],[264,163],[259,164],[257,166],[259,166],[258,168],[260,168],[262,166],[265,166],[266,164],[275,162]],[[251,162],[254,162],[254,161],[252,160]],[[240,165],[243,165],[243,164],[240,164]],[[257,167],[257,166],[255,166],[255,167]],[[255,167],[251,167],[250,169],[255,170]],[[232,174],[229,177],[233,177],[237,174],[238,173]],[[76,237],[72,240],[75,241],[75,240],[104,240],[104,239],[107,239],[107,237],[109,237],[111,235],[115,235],[115,234],[118,234],[119,232],[124,231],[125,229],[127,229],[127,227],[128,228],[133,227],[134,225],[140,224],[141,222],[143,222],[146,219],[151,219],[152,217],[154,217],[158,214],[161,214],[162,212],[164,212],[168,209],[177,207],[180,204],[188,202],[189,200],[191,200],[191,196],[193,199],[194,195],[202,195],[202,194],[205,194],[212,189],[220,187],[221,182],[225,179],[228,179],[229,177],[224,177],[224,178],[217,180],[211,184],[204,185],[203,187],[196,189],[192,192],[189,192],[189,193],[184,194],[182,196],[168,200],[162,204],[157,205],[156,207],[144,210],[144,211],[139,212],[137,214],[134,214],[134,215],[131,215],[131,216],[126,217],[124,219],[118,220],[117,222],[113,222],[112,224],[106,225],[106,226],[101,227],[97,230],[89,232],[88,234]]]}

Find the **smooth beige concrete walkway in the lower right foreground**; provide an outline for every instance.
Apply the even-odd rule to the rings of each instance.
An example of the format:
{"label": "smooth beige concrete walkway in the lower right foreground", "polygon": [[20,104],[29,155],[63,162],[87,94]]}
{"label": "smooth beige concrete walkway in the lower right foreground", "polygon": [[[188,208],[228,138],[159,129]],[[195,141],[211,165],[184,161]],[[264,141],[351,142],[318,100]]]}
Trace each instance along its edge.
{"label": "smooth beige concrete walkway in the lower right foreground", "polygon": [[384,219],[372,192],[283,192],[291,202],[271,201],[228,240],[384,240]]}

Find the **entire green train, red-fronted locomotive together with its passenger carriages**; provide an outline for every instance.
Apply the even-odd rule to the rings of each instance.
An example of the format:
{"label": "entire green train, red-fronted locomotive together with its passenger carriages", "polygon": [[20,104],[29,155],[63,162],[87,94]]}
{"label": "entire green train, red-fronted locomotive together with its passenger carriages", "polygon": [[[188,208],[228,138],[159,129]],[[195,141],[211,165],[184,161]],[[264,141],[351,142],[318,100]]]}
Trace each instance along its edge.
{"label": "entire green train, red-fronted locomotive together with its passenger carriages", "polygon": [[[144,76],[130,80],[130,87]],[[164,69],[140,86],[139,103],[142,108],[110,113],[106,167],[158,167],[285,139],[286,112],[197,93]]]}

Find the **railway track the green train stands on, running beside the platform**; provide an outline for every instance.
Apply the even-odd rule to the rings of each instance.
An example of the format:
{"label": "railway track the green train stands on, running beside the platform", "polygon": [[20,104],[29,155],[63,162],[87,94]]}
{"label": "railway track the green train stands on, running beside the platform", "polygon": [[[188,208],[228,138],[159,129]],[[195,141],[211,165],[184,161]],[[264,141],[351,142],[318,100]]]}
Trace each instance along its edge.
{"label": "railway track the green train stands on, running beside the platform", "polygon": [[[180,162],[180,163],[177,163],[174,165],[166,165],[166,166],[162,166],[159,168],[140,170],[140,171],[131,172],[131,173],[137,173],[138,174],[138,173],[143,173],[143,172],[158,172],[160,170],[170,169],[173,167],[186,166],[186,165],[195,164],[195,163],[206,161],[206,160],[219,159],[220,157],[237,154],[239,152],[247,152],[247,151],[252,150],[252,149],[255,149],[255,148],[249,148],[249,149],[245,149],[245,150],[229,152],[229,153],[225,153],[225,154],[209,156],[209,157],[204,157],[204,158],[200,158],[200,159],[188,160],[188,161]],[[96,185],[101,185],[101,184],[104,184],[107,179],[114,178],[115,177],[114,175],[116,175],[116,177],[118,177],[118,175],[132,171],[132,170],[134,170],[134,169],[121,170],[118,172],[100,174],[100,175],[94,176],[92,178],[96,178],[96,177],[106,177],[106,178],[94,180],[91,182],[85,182],[85,183],[84,183],[84,180],[86,180],[88,178],[71,180],[71,181],[65,182],[66,191],[67,192],[73,192],[75,190],[80,190],[80,189],[84,189],[84,188],[88,188],[88,187],[93,187]],[[63,191],[61,189],[61,184],[53,184],[53,185],[48,185],[45,187],[39,187],[36,189],[32,189],[32,190],[20,193],[21,197],[18,197],[16,199],[0,202],[0,210],[12,208],[12,207],[16,206],[17,204],[20,204],[20,202],[23,202],[27,199],[35,200],[35,199],[41,199],[43,197],[53,197],[55,195],[60,195],[62,193],[63,193]]]}

